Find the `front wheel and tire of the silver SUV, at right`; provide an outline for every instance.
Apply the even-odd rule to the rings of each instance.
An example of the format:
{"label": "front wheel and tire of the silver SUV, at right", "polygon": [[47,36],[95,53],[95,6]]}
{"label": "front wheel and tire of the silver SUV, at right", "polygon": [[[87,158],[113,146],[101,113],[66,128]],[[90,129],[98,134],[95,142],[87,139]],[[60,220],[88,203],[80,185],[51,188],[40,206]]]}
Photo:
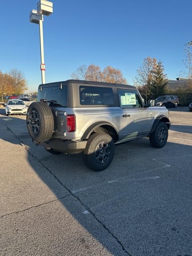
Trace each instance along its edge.
{"label": "front wheel and tire of the silver SUV, at right", "polygon": [[162,148],[168,139],[168,128],[164,122],[159,122],[155,131],[149,135],[149,141],[152,147]]}

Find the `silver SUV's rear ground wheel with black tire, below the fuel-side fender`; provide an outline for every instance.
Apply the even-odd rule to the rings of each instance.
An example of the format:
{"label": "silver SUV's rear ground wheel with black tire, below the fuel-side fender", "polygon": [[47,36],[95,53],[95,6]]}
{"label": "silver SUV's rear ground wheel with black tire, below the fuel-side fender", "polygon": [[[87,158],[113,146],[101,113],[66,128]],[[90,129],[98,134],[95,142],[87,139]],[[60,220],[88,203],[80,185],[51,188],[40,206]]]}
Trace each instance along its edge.
{"label": "silver SUV's rear ground wheel with black tire, below the fuel-side fender", "polygon": [[106,133],[94,133],[88,138],[83,151],[85,165],[96,172],[106,169],[113,160],[115,145],[112,137]]}

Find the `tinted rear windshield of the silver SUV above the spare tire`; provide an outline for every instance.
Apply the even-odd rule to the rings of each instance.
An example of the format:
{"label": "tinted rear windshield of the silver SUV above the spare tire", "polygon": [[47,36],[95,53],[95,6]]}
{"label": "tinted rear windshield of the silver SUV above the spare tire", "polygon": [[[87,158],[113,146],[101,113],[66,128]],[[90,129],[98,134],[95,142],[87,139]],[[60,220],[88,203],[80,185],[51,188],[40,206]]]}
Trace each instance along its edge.
{"label": "tinted rear windshield of the silver SUV above the spare tire", "polygon": [[55,102],[47,102],[50,107],[67,107],[67,85],[62,86],[62,89],[58,84],[52,87],[43,87],[42,91],[39,88],[37,101],[41,99],[54,100]]}

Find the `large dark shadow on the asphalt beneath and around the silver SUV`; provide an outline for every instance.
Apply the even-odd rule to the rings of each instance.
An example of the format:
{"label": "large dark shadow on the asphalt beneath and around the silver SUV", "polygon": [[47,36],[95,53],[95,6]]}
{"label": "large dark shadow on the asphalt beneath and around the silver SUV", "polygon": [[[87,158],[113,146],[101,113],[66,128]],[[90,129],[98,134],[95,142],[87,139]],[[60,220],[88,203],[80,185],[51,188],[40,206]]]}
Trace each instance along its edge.
{"label": "large dark shadow on the asphalt beneath and around the silver SUV", "polygon": [[[0,113],[4,111],[0,110]],[[14,119],[14,123],[8,118]],[[188,213],[192,212],[191,192],[182,190],[187,186],[182,174],[174,168],[168,169],[164,163],[168,155],[172,157],[173,149],[174,157],[182,154],[181,144],[168,142],[164,148],[154,149],[147,138],[130,142],[116,147],[115,158],[108,169],[93,172],[84,166],[81,154],[51,155],[42,146],[36,147],[28,135],[24,119],[0,117],[0,124],[6,124],[18,138],[14,144],[26,145],[28,161],[34,172],[58,198],[60,192],[46,178],[44,168],[69,192],[78,204],[65,199],[60,202],[113,255],[179,255],[178,251],[182,249],[178,250],[178,247],[182,246],[183,252],[187,252],[187,244],[191,244],[192,223],[188,220]],[[174,129],[192,133],[188,127],[174,125]],[[5,133],[1,133],[0,138],[12,143]],[[183,146],[191,152],[192,146]],[[32,158],[42,164],[42,169],[36,167]],[[170,162],[174,163],[174,160]],[[180,164],[183,165],[182,158],[178,166]],[[158,179],[154,183],[145,180],[146,176],[154,176],[154,171],[163,175],[162,166],[168,172],[165,178],[162,177],[162,183],[158,183]],[[174,177],[176,173],[178,180],[174,180],[173,185],[170,176]],[[185,175],[188,179],[187,171]],[[132,180],[138,181],[137,185]],[[180,215],[183,215],[182,220]],[[174,230],[179,230],[180,234]]]}

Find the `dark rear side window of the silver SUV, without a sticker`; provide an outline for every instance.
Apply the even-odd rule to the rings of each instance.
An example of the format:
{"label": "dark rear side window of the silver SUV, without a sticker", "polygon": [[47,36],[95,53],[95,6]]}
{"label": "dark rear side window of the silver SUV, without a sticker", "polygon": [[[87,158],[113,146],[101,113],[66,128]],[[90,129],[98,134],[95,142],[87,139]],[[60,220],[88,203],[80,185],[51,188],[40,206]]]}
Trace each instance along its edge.
{"label": "dark rear side window of the silver SUV, without a sticker", "polygon": [[80,104],[113,105],[113,90],[108,87],[80,86]]}

